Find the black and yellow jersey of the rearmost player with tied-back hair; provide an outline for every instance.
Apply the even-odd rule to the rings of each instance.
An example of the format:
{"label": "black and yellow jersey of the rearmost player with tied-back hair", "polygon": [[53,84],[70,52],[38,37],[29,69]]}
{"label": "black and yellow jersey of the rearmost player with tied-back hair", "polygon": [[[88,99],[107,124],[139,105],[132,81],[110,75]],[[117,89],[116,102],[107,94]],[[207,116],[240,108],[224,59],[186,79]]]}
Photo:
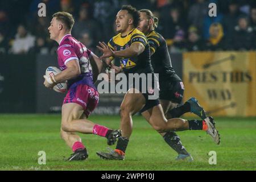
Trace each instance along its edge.
{"label": "black and yellow jersey of the rearmost player with tied-back hair", "polygon": [[154,72],[159,74],[159,81],[167,79],[171,81],[181,80],[172,68],[171,57],[163,36],[152,30],[147,34],[147,39],[151,51],[154,52],[151,56],[151,64]]}

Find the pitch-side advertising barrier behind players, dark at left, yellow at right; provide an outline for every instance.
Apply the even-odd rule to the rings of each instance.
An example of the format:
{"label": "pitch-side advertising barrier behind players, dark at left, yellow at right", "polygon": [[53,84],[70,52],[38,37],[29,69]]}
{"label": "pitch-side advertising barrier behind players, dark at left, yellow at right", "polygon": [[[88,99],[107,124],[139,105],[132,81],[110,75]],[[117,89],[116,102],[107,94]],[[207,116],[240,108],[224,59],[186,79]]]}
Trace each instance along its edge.
{"label": "pitch-side advertising barrier behind players, dark at left, yellow at right", "polygon": [[[214,116],[256,116],[255,52],[187,52],[171,55],[183,78],[183,101],[196,97]],[[0,55],[0,113],[55,113],[65,94],[43,85],[56,55]],[[100,94],[93,114],[118,114],[123,94]]]}

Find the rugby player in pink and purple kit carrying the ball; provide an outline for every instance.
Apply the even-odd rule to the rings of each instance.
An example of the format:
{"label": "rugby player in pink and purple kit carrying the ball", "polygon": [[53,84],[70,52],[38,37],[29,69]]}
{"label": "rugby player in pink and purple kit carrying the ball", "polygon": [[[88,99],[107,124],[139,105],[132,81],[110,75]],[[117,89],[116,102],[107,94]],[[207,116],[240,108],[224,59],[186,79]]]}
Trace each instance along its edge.
{"label": "rugby player in pink and purple kit carrying the ball", "polygon": [[61,138],[74,152],[68,160],[84,160],[88,158],[88,152],[76,132],[106,137],[108,144],[112,145],[119,137],[120,131],[108,129],[87,119],[99,100],[89,60],[95,61],[99,70],[102,68],[102,62],[72,37],[71,30],[75,20],[71,14],[57,12],[52,17],[48,30],[50,39],[59,43],[57,55],[62,72],[52,77],[44,75],[44,85],[53,88],[59,82],[68,81],[68,92],[61,111]]}

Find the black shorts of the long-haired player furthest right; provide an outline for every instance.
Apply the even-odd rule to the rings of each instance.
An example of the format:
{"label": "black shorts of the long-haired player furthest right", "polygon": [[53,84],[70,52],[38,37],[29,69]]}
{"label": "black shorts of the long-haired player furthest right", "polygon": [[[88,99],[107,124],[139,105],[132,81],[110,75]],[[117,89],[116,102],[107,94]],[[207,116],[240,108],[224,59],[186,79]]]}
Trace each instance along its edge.
{"label": "black shorts of the long-haired player furthest right", "polygon": [[159,99],[172,101],[180,104],[183,99],[184,85],[182,81],[161,81],[159,82]]}

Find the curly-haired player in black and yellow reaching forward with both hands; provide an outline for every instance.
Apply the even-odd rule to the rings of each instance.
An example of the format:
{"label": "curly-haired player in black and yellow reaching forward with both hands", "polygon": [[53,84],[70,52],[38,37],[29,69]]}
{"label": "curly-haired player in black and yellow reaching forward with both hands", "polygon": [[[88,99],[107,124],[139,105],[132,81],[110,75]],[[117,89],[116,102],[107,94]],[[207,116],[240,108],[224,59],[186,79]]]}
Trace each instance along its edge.
{"label": "curly-haired player in black and yellow reaching forward with both hands", "polygon": [[[118,35],[110,39],[108,46],[100,42],[98,49],[103,53],[100,58],[105,58],[108,65],[115,58],[121,63],[121,69],[114,67],[117,72],[123,71],[127,77],[135,74],[154,75],[154,71],[150,60],[150,44],[143,32],[137,29],[139,23],[139,12],[130,5],[123,6],[117,13],[116,30]],[[158,91],[158,84],[154,85],[155,77],[150,81],[146,77],[144,82],[150,82],[153,88],[143,88],[142,80],[139,81],[139,86],[132,86],[127,90],[121,104],[121,130],[122,137],[119,137],[115,150],[110,152],[97,152],[97,155],[103,159],[123,160],[125,159],[126,147],[129,143],[129,137],[133,129],[132,115],[141,111],[143,117],[150,125],[159,133],[169,131],[183,130],[205,130],[214,139],[214,142],[219,143],[218,131],[214,127],[213,120],[209,117],[203,121],[185,120],[181,118],[166,119],[164,117],[162,106],[158,98],[152,99],[152,95]],[[143,92],[146,90],[146,92]]]}

